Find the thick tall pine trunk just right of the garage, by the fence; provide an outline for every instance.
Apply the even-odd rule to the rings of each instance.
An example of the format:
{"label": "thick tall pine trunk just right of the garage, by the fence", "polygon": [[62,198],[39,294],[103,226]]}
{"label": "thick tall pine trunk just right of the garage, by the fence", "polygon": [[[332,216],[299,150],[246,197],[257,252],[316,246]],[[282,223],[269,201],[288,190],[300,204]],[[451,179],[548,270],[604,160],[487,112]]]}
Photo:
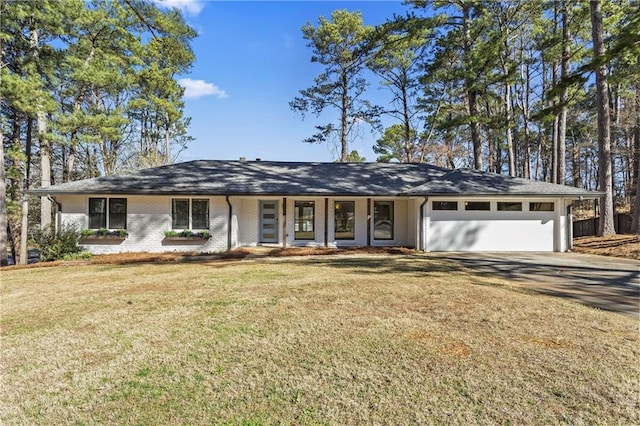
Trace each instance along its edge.
{"label": "thick tall pine trunk just right of the garage, by the fence", "polygon": [[[602,61],[605,48],[602,28],[602,10],[600,0],[589,2],[591,9],[591,34],[593,38],[593,56]],[[598,236],[615,234],[613,224],[613,186],[611,184],[611,118],[609,116],[609,84],[605,63],[596,68],[596,102],[598,107],[598,183],[604,196],[600,200],[600,222]]]}

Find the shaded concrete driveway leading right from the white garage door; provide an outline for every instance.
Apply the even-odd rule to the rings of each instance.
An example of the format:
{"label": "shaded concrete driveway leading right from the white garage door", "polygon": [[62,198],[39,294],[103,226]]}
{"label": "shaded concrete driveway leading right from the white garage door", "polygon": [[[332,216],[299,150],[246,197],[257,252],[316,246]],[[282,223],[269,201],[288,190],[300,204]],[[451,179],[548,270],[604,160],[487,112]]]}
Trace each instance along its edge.
{"label": "shaded concrete driveway leading right from the white garage door", "polygon": [[431,253],[480,274],[640,318],[640,262],[580,253]]}

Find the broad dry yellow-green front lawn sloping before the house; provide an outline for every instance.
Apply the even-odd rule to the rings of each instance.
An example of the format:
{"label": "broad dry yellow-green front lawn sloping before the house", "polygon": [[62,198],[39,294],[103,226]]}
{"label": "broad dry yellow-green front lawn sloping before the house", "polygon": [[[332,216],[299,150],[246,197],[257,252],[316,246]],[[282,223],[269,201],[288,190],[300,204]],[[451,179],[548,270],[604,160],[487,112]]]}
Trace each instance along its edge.
{"label": "broad dry yellow-green front lawn sloping before the house", "polygon": [[3,425],[640,424],[637,320],[432,258],[1,279]]}

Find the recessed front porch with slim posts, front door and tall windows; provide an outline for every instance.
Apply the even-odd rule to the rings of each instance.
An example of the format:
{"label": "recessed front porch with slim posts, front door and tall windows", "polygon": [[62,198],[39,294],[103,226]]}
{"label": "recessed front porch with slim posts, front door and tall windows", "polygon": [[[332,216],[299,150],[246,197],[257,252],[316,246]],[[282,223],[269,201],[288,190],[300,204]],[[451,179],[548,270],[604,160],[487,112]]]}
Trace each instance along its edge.
{"label": "recessed front porch with slim posts, front door and tall windows", "polygon": [[419,198],[229,197],[231,246],[418,247]]}

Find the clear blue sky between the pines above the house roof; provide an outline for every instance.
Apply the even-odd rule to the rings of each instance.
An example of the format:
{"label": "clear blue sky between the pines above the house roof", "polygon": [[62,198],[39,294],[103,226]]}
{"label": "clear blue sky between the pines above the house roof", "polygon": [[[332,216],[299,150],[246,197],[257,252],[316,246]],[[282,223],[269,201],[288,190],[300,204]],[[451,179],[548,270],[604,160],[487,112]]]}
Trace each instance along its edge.
{"label": "clear blue sky between the pines above the house roof", "polygon": [[[195,65],[180,77],[185,115],[192,118],[190,134],[196,138],[181,161],[335,160],[337,147],[302,142],[331,117],[302,120],[289,108],[323,69],[311,63],[301,28],[308,22],[317,25],[319,16],[330,17],[335,9],[362,12],[366,25],[407,10],[400,1],[156,1],[180,8],[199,34],[193,41]],[[388,103],[386,91],[377,85],[367,98]],[[375,161],[371,147],[377,137],[365,129],[350,149]]]}

